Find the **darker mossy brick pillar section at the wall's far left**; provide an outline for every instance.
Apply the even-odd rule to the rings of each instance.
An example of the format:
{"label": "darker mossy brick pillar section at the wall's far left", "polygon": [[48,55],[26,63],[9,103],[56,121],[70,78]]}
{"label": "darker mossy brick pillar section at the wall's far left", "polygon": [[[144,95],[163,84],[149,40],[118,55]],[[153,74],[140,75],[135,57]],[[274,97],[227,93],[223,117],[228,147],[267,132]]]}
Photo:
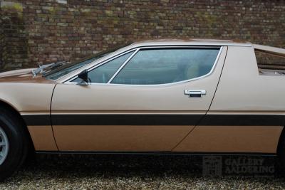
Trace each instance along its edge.
{"label": "darker mossy brick pillar section at the wall's far left", "polygon": [[0,70],[29,67],[22,4],[1,1],[0,16]]}

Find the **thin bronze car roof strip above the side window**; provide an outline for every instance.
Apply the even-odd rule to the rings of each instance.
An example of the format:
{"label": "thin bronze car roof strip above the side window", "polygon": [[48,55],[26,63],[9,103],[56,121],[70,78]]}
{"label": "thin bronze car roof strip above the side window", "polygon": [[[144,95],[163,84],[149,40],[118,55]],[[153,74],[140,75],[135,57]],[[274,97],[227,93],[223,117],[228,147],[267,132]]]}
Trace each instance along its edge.
{"label": "thin bronze car roof strip above the side window", "polygon": [[246,41],[216,40],[216,39],[157,39],[136,41],[130,46],[252,46],[252,43]]}

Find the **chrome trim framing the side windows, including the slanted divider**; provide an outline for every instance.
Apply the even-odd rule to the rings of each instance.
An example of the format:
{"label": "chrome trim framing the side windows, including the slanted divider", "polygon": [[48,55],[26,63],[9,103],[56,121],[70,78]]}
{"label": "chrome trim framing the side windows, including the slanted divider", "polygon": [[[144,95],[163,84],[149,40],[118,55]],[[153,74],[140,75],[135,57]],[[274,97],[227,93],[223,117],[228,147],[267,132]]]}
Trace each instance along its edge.
{"label": "chrome trim framing the side windows, including the slanted divider", "polygon": [[[116,75],[118,75],[118,73],[120,72],[121,69],[123,69],[123,67],[125,66],[126,63],[128,63],[128,61],[130,60],[130,58],[133,58],[133,56],[135,56],[136,53],[138,53],[138,51],[140,51],[140,49],[147,49],[147,48],[219,48],[219,53],[217,54],[217,58],[214,60],[214,64],[212,66],[212,69],[209,71],[209,73],[207,73],[206,75],[202,75],[202,76],[199,76],[197,78],[191,78],[189,80],[181,80],[181,81],[178,81],[178,82],[175,82],[175,83],[164,83],[164,84],[155,84],[155,85],[132,85],[132,84],[113,84],[113,83],[110,83],[112,82],[113,78],[115,78]],[[165,85],[177,85],[177,84],[180,84],[180,83],[188,83],[190,81],[193,81],[193,80],[199,80],[201,78],[206,78],[207,76],[211,75],[213,72],[214,72],[214,69],[216,68],[216,65],[217,65],[217,62],[219,60],[219,57],[221,56],[221,53],[222,53],[222,50],[223,50],[223,46],[142,46],[142,47],[138,47],[138,48],[134,48],[134,49],[131,49],[130,51],[134,51],[135,52],[130,56],[130,58],[128,58],[125,63],[123,63],[123,65],[121,65],[121,67],[117,70],[117,72],[115,72],[115,74],[112,76],[112,78],[110,78],[110,80],[108,81],[108,83],[88,83],[88,85],[114,85],[114,86],[122,86],[122,85],[125,85],[125,86],[142,86],[142,87],[151,87],[151,86],[165,86]],[[100,65],[103,65],[104,63],[107,63],[108,61],[110,60],[113,60],[115,58],[118,58],[120,56],[123,56],[125,55],[126,53],[129,53],[130,51],[125,51],[124,53],[118,53],[116,56],[114,56],[113,58],[110,58],[108,60],[105,60],[103,61],[102,63],[98,63],[96,65],[93,65],[91,66],[90,68],[88,68],[87,70],[93,70],[94,68],[97,68],[98,66]],[[123,66],[123,67],[122,67]],[[79,74],[80,72],[78,72],[76,75],[73,75],[72,78],[69,78],[68,80],[66,80],[66,82],[63,82],[64,84],[76,84],[74,82],[71,82],[70,80],[73,80],[77,77],[77,75]]]}

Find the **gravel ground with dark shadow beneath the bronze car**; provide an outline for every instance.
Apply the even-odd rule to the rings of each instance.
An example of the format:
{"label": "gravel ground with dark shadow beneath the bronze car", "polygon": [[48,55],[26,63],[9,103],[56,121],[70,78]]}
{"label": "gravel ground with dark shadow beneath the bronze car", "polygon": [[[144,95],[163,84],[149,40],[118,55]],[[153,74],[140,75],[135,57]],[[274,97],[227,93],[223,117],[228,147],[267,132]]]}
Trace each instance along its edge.
{"label": "gravel ground with dark shadow beneath the bronze car", "polygon": [[[285,189],[274,173],[205,176],[204,157],[182,155],[37,155],[0,189]],[[222,157],[222,163],[273,167],[274,157]],[[224,162],[227,160],[227,162]],[[246,160],[246,162],[241,162]],[[247,165],[248,164],[248,165]],[[276,170],[276,167],[275,167]],[[249,170],[250,171],[250,170]]]}

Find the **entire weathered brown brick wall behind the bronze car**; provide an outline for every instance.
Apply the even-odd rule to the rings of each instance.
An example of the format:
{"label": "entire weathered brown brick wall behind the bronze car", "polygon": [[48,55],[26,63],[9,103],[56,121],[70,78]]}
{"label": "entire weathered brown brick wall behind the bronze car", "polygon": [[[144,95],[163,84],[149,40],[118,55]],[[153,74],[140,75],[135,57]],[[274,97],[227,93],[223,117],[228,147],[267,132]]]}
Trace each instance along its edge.
{"label": "entire weathered brown brick wall behind the bronze car", "polygon": [[0,1],[6,69],[77,59],[145,38],[239,39],[285,48],[284,0]]}

